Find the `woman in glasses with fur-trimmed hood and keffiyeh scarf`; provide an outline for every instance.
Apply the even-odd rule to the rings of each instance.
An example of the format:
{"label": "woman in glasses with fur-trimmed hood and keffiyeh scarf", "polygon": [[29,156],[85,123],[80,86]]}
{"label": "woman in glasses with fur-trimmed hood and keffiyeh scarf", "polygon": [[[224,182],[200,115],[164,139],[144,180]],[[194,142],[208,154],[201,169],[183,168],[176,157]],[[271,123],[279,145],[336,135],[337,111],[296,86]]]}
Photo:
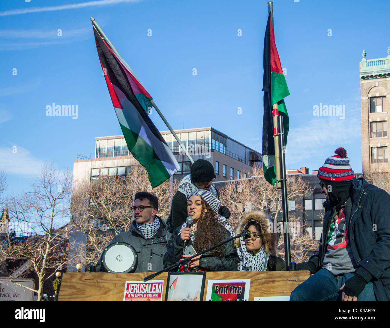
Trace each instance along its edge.
{"label": "woman in glasses with fur-trimmed hood and keffiyeh scarf", "polygon": [[236,227],[236,234],[246,229],[247,236],[236,239],[240,271],[284,271],[286,265],[278,255],[276,233],[269,232],[272,222],[266,213],[252,211],[244,215]]}

